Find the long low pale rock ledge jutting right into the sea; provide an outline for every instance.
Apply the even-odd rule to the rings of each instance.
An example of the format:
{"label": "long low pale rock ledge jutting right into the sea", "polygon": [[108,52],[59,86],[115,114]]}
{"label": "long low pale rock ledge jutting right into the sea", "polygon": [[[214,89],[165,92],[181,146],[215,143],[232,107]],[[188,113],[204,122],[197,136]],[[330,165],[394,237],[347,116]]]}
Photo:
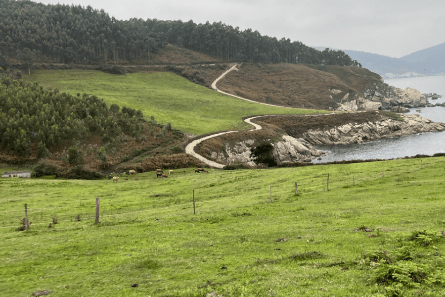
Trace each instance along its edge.
{"label": "long low pale rock ledge jutting right into the sea", "polygon": [[445,123],[432,122],[418,114],[401,115],[403,121],[387,119],[364,124],[345,124],[330,130],[309,130],[304,139],[312,145],[360,144],[381,138],[445,131]]}

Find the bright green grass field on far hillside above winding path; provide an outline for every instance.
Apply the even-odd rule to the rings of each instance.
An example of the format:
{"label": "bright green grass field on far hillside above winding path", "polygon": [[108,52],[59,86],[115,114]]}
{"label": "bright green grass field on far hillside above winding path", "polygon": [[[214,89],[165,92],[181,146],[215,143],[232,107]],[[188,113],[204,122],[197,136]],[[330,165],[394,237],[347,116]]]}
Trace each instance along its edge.
{"label": "bright green grass field on far hillside above winding path", "polygon": [[95,95],[107,104],[140,109],[161,124],[193,134],[251,128],[243,116],[308,114],[321,110],[271,107],[222,95],[171,72],[107,74],[89,70],[35,70],[25,80],[72,95]]}

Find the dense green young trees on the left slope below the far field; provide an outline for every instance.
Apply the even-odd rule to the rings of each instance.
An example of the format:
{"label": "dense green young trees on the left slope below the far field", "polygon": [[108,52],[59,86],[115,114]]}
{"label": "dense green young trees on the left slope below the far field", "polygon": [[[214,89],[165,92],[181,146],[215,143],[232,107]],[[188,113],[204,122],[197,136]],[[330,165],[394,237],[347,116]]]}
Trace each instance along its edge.
{"label": "dense green young trees on the left slope below the far field", "polygon": [[95,96],[46,90],[0,72],[0,147],[19,156],[30,155],[33,143],[41,158],[54,146],[71,144],[92,133],[109,143],[122,135],[137,139],[144,129],[140,110],[121,109],[117,104],[108,108]]}

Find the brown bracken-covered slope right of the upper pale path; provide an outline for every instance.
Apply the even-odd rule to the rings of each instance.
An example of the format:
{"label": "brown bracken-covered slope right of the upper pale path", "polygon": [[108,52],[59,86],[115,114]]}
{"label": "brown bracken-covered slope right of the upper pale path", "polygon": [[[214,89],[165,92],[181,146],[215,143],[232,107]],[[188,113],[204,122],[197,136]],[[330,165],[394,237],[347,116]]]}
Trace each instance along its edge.
{"label": "brown bracken-covered slope right of the upper pale path", "polygon": [[[364,68],[306,64],[244,63],[219,83],[224,92],[263,103],[332,109],[346,95],[354,98],[381,77]],[[330,97],[330,90],[342,92]]]}

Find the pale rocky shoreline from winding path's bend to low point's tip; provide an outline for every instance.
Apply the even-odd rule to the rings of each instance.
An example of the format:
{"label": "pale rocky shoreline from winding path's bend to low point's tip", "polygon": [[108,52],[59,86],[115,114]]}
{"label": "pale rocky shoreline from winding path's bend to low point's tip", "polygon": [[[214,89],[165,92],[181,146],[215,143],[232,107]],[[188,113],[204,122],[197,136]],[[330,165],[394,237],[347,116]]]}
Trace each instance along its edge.
{"label": "pale rocky shoreline from winding path's bend to low point's tip", "polygon": [[[433,122],[418,114],[401,114],[401,118],[403,120],[386,119],[363,124],[349,123],[330,130],[309,130],[299,139],[283,135],[281,141],[273,144],[273,155],[278,164],[306,163],[327,154],[325,151],[315,149],[313,145],[362,144],[382,138],[445,131],[445,123]],[[225,143],[224,151],[212,152],[210,157],[227,165],[242,162],[255,166],[250,157],[250,148],[254,144],[253,139],[234,145]]]}

